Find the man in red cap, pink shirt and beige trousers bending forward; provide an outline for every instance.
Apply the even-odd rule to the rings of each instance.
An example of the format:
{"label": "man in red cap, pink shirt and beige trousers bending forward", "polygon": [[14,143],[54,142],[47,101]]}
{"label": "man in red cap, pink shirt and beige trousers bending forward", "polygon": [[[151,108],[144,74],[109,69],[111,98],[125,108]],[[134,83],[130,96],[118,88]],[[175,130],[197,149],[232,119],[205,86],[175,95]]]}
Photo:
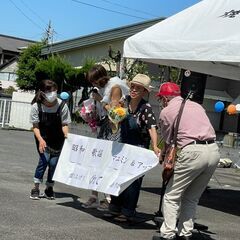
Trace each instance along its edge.
{"label": "man in red cap, pink shirt and beige trousers bending forward", "polygon": [[[183,98],[179,86],[171,82],[163,83],[157,96],[163,107],[160,131],[166,149],[171,144]],[[177,131],[178,158],[163,199],[164,222],[160,239],[191,239],[199,198],[220,159],[215,138],[203,107],[187,100]],[[164,152],[161,152],[160,160]]]}

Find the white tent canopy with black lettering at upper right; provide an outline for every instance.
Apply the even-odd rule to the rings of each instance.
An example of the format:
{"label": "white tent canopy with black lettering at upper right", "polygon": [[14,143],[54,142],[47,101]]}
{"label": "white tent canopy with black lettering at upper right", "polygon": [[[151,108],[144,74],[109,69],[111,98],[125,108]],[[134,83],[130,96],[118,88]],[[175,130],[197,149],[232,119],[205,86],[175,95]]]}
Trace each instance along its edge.
{"label": "white tent canopy with black lettering at upper right", "polygon": [[124,42],[136,58],[240,80],[240,0],[204,0]]}

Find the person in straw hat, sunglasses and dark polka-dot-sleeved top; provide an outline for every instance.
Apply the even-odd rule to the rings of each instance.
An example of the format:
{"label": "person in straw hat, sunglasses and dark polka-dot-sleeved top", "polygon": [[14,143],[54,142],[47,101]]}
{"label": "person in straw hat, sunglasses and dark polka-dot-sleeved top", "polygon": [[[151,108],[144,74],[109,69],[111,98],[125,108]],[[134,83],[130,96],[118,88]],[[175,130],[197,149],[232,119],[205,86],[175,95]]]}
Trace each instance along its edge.
{"label": "person in straw hat, sunglasses and dark polka-dot-sleeved top", "polygon": [[[125,99],[129,114],[121,123],[121,142],[147,149],[152,142],[158,156],[156,118],[151,105],[143,99],[150,91],[150,81],[148,76],[137,74],[130,82],[130,95]],[[135,215],[142,179],[135,180],[118,197],[111,196],[109,211],[118,215],[119,220],[131,220]]]}

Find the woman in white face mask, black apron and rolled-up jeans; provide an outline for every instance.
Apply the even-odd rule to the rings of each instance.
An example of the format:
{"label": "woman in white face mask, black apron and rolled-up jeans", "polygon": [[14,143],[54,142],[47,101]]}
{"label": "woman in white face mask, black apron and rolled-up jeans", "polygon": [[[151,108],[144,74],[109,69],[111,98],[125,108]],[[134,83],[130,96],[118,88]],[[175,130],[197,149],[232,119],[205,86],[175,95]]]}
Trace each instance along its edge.
{"label": "woman in white face mask, black apron and rolled-up jeans", "polygon": [[68,124],[71,122],[67,105],[57,98],[57,84],[51,80],[43,80],[32,101],[30,121],[39,153],[39,162],[34,175],[34,188],[31,199],[40,199],[39,185],[48,167],[46,189],[44,195],[54,199],[52,180],[58,158],[68,134]]}

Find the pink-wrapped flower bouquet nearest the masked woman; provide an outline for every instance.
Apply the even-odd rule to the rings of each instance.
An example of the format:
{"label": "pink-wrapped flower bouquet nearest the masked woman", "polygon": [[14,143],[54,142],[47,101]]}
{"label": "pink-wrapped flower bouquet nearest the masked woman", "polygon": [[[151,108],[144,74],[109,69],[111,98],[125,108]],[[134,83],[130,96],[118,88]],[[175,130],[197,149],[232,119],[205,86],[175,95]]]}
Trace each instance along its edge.
{"label": "pink-wrapped flower bouquet nearest the masked woman", "polygon": [[94,99],[89,98],[83,102],[83,106],[79,111],[82,119],[89,125],[93,132],[97,131],[98,116]]}

